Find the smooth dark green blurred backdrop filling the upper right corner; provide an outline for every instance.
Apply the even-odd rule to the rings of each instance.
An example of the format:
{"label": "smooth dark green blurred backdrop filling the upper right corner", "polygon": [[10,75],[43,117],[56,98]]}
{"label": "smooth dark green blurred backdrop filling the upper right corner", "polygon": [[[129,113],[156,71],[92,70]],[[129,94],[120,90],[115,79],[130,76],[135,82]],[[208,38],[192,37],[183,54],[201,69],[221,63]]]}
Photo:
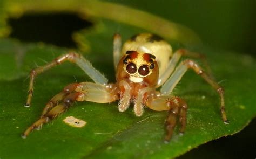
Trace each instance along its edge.
{"label": "smooth dark green blurred backdrop filling the upper right corner", "polygon": [[[117,2],[117,1],[112,1]],[[256,1],[118,1],[190,27],[204,44],[256,53]],[[155,5],[153,5],[156,3]],[[161,8],[161,9],[159,9]]]}

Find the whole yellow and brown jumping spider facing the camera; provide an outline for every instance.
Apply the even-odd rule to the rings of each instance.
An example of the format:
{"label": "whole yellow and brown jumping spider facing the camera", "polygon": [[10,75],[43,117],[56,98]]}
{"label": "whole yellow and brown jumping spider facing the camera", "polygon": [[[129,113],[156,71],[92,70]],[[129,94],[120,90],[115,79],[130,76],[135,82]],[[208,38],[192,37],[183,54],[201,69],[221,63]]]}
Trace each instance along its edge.
{"label": "whole yellow and brown jumping spider facing the camera", "polygon": [[[170,141],[177,116],[179,116],[180,133],[184,132],[186,126],[187,104],[170,93],[188,68],[203,77],[218,92],[221,116],[224,123],[228,123],[224,105],[224,89],[193,60],[181,61],[176,67],[181,56],[202,57],[199,53],[189,52],[185,49],[172,53],[170,44],[159,36],[149,33],[131,37],[121,49],[121,37],[119,34],[115,34],[113,59],[117,82],[114,84],[109,84],[104,75],[96,70],[89,61],[73,52],[64,54],[45,66],[31,70],[29,94],[25,107],[30,106],[35,77],[64,63],[64,61],[76,63],[95,83],[82,82],[66,86],[62,92],[55,95],[46,104],[40,119],[26,129],[22,137],[25,138],[33,129],[41,127],[43,123],[49,122],[64,112],[75,101],[109,103],[119,100],[118,110],[120,112],[124,112],[133,102],[136,116],[142,116],[144,107],[156,111],[169,111],[165,122],[167,130],[165,141]],[[156,91],[156,88],[160,86],[160,91]]]}

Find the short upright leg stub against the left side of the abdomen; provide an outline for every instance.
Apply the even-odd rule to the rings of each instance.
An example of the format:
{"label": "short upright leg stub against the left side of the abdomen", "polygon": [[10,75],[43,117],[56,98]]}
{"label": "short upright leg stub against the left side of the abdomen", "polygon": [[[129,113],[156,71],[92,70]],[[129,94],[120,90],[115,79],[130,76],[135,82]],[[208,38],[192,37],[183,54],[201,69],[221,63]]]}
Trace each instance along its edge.
{"label": "short upright leg stub against the left side of the abdomen", "polygon": [[122,39],[120,34],[116,33],[113,37],[113,58],[114,58],[114,69],[117,69],[117,65],[119,60],[121,59],[121,47],[122,47]]}

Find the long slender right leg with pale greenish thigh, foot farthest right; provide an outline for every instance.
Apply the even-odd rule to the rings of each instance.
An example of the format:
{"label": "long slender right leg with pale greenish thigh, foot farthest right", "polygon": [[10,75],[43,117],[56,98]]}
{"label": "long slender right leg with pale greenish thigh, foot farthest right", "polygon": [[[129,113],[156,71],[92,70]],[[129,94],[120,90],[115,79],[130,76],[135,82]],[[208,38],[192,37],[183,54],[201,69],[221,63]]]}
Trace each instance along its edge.
{"label": "long slender right leg with pale greenish thigh, foot farthest right", "polygon": [[170,94],[174,87],[178,84],[181,77],[185,74],[185,72],[188,70],[188,68],[191,68],[196,72],[198,75],[203,77],[208,84],[210,84],[218,93],[220,96],[220,111],[221,116],[224,121],[224,123],[228,123],[227,116],[225,113],[225,102],[224,102],[224,89],[221,87],[217,82],[215,82],[209,75],[207,75],[202,68],[193,60],[184,60],[182,61],[179,66],[176,68],[176,70],[172,73],[171,77],[165,82],[165,84],[161,87],[161,94]]}

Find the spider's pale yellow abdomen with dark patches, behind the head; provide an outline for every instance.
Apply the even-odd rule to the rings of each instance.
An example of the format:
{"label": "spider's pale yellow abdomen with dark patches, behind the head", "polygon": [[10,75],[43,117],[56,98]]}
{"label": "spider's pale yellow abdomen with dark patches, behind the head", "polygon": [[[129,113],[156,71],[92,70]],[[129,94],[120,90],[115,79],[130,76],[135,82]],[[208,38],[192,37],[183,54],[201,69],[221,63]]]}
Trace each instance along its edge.
{"label": "spider's pale yellow abdomen with dark patches, behind the head", "polygon": [[164,73],[172,56],[171,45],[165,42],[163,38],[150,33],[142,33],[132,36],[123,45],[122,54],[124,55],[126,51],[150,53],[156,56],[159,66],[159,75]]}

